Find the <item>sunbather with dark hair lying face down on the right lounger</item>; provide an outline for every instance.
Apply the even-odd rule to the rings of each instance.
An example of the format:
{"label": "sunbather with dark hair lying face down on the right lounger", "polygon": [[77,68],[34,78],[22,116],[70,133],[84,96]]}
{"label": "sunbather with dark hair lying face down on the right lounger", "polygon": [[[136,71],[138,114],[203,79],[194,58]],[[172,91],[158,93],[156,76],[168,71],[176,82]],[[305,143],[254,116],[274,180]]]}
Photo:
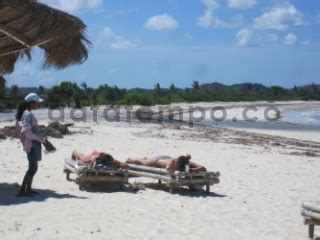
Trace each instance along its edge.
{"label": "sunbather with dark hair lying face down on the right lounger", "polygon": [[191,156],[180,156],[178,158],[172,158],[170,156],[161,155],[157,157],[145,157],[140,159],[129,158],[126,163],[137,164],[146,167],[164,168],[169,173],[174,171],[184,172],[186,171],[186,165],[189,165],[190,172],[206,172],[207,169],[204,166],[196,164],[190,161]]}

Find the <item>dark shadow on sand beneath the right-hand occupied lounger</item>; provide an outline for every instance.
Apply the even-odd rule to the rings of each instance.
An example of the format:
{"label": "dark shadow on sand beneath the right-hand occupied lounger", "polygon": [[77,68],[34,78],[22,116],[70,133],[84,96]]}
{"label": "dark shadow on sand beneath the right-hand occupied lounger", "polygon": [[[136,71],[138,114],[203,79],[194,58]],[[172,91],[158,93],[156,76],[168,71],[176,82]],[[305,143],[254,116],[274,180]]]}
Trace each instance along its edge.
{"label": "dark shadow on sand beneath the right-hand occupied lounger", "polygon": [[[145,183],[144,186],[146,188],[151,188],[153,190],[161,190],[169,192],[169,188],[166,187],[164,184],[158,184],[158,183]],[[227,195],[220,195],[214,192],[210,192],[209,194],[206,193],[204,190],[190,190],[188,188],[179,188],[175,189],[174,194],[179,194],[181,196],[185,197],[214,197],[214,198],[225,198]]]}

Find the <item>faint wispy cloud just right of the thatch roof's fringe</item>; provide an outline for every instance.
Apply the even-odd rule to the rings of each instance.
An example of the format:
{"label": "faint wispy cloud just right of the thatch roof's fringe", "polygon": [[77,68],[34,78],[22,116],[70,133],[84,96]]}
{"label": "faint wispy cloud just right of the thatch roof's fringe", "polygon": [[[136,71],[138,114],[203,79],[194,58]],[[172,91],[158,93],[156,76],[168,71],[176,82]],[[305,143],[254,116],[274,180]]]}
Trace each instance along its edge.
{"label": "faint wispy cloud just right of the thatch roof's fringe", "polygon": [[108,26],[103,30],[103,39],[106,40],[108,46],[113,49],[126,49],[136,47],[136,44],[134,42],[115,34]]}

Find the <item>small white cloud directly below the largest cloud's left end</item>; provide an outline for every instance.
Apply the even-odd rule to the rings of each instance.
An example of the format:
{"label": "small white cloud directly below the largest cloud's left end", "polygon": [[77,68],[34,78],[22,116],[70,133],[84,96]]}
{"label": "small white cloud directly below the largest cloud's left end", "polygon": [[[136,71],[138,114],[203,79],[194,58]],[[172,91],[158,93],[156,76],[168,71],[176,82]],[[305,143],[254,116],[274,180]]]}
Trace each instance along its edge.
{"label": "small white cloud directly below the largest cloud's left end", "polygon": [[277,43],[279,36],[276,33],[261,33],[243,28],[237,33],[236,40],[240,47],[260,47],[266,44]]}

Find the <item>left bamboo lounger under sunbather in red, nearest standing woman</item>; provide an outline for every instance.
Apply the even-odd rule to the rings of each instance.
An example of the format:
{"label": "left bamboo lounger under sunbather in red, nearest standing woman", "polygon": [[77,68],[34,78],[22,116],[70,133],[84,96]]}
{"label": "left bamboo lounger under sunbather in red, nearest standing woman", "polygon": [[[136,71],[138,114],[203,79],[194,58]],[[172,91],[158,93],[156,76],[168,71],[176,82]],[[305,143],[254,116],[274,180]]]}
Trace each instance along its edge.
{"label": "left bamboo lounger under sunbather in red, nearest standing woman", "polygon": [[79,165],[72,159],[65,159],[64,173],[70,181],[70,174],[75,174],[75,182],[81,190],[97,184],[128,184],[128,172],[122,170],[97,170],[88,165]]}

